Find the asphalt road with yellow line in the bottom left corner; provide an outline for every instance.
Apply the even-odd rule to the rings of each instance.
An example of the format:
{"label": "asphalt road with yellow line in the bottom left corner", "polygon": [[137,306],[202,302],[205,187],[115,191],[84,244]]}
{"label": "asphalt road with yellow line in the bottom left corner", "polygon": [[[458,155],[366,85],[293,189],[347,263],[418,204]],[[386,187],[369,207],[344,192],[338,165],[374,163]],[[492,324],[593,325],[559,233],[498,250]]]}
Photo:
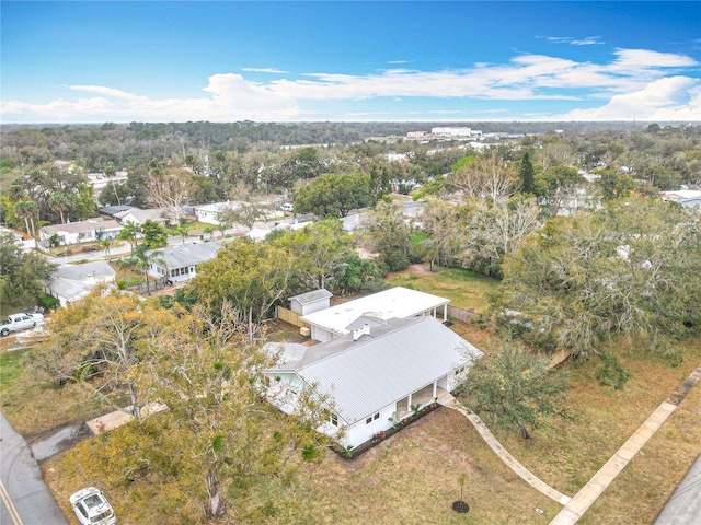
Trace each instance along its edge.
{"label": "asphalt road with yellow line in the bottom left corner", "polygon": [[24,438],[0,412],[0,523],[68,525]]}

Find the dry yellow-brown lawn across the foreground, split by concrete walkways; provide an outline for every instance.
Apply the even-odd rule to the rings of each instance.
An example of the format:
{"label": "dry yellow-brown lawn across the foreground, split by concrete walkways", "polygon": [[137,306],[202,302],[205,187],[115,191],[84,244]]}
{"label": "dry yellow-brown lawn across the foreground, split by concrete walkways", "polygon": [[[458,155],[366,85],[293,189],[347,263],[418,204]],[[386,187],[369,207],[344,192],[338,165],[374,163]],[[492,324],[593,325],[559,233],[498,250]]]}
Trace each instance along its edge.
{"label": "dry yellow-brown lawn across the foreground, split by concrete walkways", "polygon": [[[462,328],[466,337],[479,342],[482,334],[469,325]],[[574,495],[701,362],[701,339],[689,341],[687,347],[685,361],[677,368],[623,354],[621,362],[632,378],[622,390],[598,384],[594,378],[596,359],[566,363],[572,381],[563,401],[575,412],[575,421],[550,421],[535,430],[529,441],[492,430],[527,468],[561,492]],[[2,409],[18,430],[37,434],[99,411],[94,404],[81,400],[77,390],[43,392],[25,386],[19,373],[25,358],[26,353],[7,353],[0,359]],[[700,406],[701,387],[697,386],[581,523],[652,523],[701,453]],[[93,438],[42,465],[57,501],[69,512],[65,503],[70,492],[97,483],[113,500],[122,523],[142,523],[139,516],[149,515],[146,509],[152,504],[164,512],[169,508],[165,502],[130,493],[124,483],[108,486],[99,471],[76,467],[81,464],[81,453],[93,446],[108,447],[112,439],[111,434]],[[329,453],[320,464],[302,464],[300,469],[300,479],[284,490],[297,493],[307,509],[304,517],[290,522],[289,515],[272,513],[265,521],[251,523],[547,524],[561,509],[504,466],[467,419],[445,408],[353,462]],[[450,505],[460,497],[463,478],[463,498],[471,510],[457,514]],[[272,489],[261,490],[257,497]],[[152,498],[159,498],[158,490]],[[183,504],[192,509],[197,503]],[[537,508],[544,514],[536,512]],[[172,512],[161,516],[165,523],[186,523],[176,509]],[[221,523],[238,522],[231,515]]]}

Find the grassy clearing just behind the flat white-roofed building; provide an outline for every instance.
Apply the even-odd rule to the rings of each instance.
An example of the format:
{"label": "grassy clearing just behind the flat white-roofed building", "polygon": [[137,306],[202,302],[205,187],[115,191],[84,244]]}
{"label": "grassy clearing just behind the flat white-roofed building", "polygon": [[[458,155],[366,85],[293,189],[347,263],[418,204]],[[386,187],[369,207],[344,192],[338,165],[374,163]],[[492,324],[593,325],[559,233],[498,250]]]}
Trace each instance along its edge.
{"label": "grassy clearing just behind the flat white-roofed building", "polygon": [[388,277],[392,287],[413,288],[426,293],[450,299],[452,306],[484,312],[489,307],[487,294],[496,289],[499,281],[461,268],[413,265],[409,269]]}

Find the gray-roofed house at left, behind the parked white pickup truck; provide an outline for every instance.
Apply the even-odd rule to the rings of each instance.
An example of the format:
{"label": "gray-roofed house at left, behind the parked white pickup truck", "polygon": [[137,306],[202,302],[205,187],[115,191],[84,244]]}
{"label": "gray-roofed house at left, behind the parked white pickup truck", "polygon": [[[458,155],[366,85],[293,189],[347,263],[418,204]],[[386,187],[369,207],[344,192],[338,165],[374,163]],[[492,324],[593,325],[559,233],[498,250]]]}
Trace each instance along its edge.
{"label": "gray-roofed house at left, behind the parked white pickup truck", "polygon": [[51,272],[44,283],[44,290],[66,307],[88,295],[97,284],[114,282],[115,276],[116,272],[105,260],[64,265]]}

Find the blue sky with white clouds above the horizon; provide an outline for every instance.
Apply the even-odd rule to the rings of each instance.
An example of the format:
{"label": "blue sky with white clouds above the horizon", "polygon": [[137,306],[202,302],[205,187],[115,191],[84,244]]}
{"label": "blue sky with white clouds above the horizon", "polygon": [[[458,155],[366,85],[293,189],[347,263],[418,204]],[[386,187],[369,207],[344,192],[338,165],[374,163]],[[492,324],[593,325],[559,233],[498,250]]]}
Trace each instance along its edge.
{"label": "blue sky with white clouds above the horizon", "polygon": [[0,120],[701,120],[701,2],[13,2]]}

